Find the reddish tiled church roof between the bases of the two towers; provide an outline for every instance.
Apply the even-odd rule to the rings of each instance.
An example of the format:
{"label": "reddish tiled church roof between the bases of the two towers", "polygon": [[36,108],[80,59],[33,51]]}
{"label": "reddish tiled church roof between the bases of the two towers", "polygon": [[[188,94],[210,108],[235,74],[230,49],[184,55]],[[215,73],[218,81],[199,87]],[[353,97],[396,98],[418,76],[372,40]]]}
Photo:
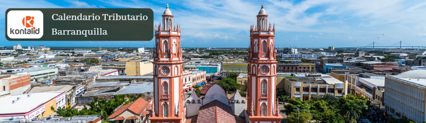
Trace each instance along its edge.
{"label": "reddish tiled church roof between the bases of the two towers", "polygon": [[236,122],[232,108],[218,100],[199,108],[197,122]]}

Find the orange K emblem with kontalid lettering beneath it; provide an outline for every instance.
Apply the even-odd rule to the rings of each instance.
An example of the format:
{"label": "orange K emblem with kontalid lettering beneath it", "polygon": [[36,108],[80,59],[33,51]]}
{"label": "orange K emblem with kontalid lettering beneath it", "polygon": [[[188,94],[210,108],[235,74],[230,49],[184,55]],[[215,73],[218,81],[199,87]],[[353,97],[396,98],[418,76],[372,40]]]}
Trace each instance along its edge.
{"label": "orange K emblem with kontalid lettering beneath it", "polygon": [[[34,27],[34,17],[26,16],[24,19],[22,19],[22,25],[24,25],[24,29],[12,29],[11,28],[11,34],[39,34],[40,28],[36,29]],[[30,29],[28,29],[30,28]]]}

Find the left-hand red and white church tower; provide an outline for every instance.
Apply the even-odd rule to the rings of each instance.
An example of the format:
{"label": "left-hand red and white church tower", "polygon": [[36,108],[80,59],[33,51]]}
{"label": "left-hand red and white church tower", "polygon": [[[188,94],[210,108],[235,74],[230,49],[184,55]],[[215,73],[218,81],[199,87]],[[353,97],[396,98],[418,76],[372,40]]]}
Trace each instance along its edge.
{"label": "left-hand red and white church tower", "polygon": [[154,108],[153,123],[183,122],[185,111],[182,83],[182,51],[180,27],[173,25],[173,15],[168,4],[162,15],[162,24],[155,26],[154,62]]}

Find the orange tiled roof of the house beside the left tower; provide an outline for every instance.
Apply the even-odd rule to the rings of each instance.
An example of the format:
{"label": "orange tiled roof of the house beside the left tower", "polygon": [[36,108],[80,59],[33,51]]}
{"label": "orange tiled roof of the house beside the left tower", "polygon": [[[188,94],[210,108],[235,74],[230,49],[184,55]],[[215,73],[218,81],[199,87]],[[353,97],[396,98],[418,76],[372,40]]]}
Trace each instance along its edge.
{"label": "orange tiled roof of the house beside the left tower", "polygon": [[[151,98],[149,101],[151,101],[153,98]],[[121,113],[129,109],[130,111],[136,113],[136,114],[142,114],[142,112],[146,109],[150,109],[151,106],[148,106],[149,102],[143,99],[142,97],[139,97],[137,100],[130,102],[129,104],[123,105],[120,108],[118,108],[114,113],[112,113],[107,119],[114,118],[116,116],[119,116]]]}

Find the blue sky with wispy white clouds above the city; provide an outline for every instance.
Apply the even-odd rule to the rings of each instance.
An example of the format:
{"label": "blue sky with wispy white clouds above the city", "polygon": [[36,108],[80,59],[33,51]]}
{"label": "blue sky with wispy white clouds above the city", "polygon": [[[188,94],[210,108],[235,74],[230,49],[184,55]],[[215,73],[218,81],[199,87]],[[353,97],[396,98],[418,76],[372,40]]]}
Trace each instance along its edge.
{"label": "blue sky with wispy white clouds above the city", "polygon": [[[151,41],[8,41],[5,12],[9,8],[150,8],[154,24],[166,4],[181,27],[184,48],[247,48],[250,26],[264,4],[268,23],[275,24],[277,48],[355,46],[426,46],[426,1],[244,1],[244,0],[55,0],[0,1],[0,46],[154,47]],[[154,27],[152,28],[154,30]]]}

